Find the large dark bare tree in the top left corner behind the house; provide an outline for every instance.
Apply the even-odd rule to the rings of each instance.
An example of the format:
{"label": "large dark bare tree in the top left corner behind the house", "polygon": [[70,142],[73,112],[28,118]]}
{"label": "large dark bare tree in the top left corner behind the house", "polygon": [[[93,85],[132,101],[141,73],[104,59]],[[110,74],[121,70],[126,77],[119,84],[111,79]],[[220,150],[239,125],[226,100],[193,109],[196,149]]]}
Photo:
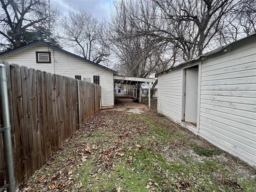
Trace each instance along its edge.
{"label": "large dark bare tree in the top left corner behind the house", "polygon": [[58,17],[58,10],[46,0],[0,0],[0,38],[10,48],[22,44],[26,32],[39,27],[49,29]]}

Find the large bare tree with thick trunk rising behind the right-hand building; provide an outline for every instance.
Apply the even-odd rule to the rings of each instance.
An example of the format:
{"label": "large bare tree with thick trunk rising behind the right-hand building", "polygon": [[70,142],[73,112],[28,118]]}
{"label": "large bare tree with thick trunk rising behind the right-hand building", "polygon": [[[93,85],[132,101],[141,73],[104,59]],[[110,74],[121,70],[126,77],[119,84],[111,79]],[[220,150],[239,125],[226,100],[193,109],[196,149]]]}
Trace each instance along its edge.
{"label": "large bare tree with thick trunk rising behind the right-hand building", "polygon": [[222,21],[227,17],[231,18],[230,15],[236,15],[237,10],[243,8],[243,2],[236,0],[153,2],[160,8],[161,16],[168,25],[173,26],[172,31],[165,30],[170,34],[170,40],[182,50],[184,60],[201,55],[208,49],[209,43],[218,35],[220,28],[226,27],[227,23]]}

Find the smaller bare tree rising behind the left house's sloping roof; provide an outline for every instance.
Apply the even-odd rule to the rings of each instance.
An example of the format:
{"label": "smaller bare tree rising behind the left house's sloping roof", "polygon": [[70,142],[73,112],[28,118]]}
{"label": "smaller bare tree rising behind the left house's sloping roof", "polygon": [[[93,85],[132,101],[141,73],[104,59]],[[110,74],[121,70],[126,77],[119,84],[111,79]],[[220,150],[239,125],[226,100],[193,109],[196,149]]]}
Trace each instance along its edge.
{"label": "smaller bare tree rising behind the left house's sloping roof", "polygon": [[63,36],[74,52],[99,63],[107,59],[108,49],[102,43],[102,23],[84,9],[69,9],[62,17]]}

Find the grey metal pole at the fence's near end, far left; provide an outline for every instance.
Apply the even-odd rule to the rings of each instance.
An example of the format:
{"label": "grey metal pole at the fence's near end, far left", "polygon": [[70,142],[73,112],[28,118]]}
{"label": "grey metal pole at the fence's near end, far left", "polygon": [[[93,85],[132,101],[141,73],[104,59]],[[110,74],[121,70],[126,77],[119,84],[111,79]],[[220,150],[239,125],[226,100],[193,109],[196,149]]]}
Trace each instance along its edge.
{"label": "grey metal pole at the fence's near end, far left", "polygon": [[2,131],[4,154],[6,162],[6,188],[9,188],[9,192],[15,192],[15,177],[13,168],[12,157],[12,138],[11,138],[11,124],[9,114],[9,102],[7,92],[7,77],[6,66],[0,64],[0,98],[1,98],[1,111],[2,111]]}

